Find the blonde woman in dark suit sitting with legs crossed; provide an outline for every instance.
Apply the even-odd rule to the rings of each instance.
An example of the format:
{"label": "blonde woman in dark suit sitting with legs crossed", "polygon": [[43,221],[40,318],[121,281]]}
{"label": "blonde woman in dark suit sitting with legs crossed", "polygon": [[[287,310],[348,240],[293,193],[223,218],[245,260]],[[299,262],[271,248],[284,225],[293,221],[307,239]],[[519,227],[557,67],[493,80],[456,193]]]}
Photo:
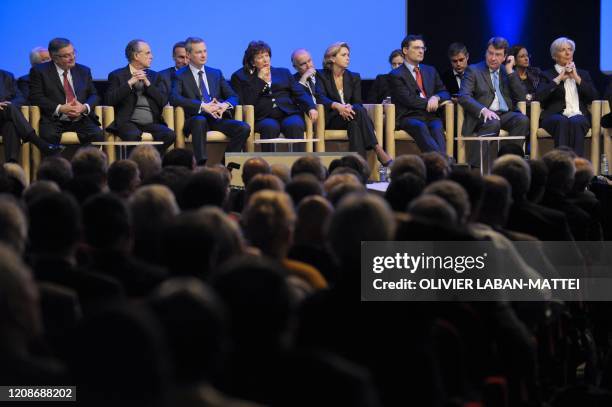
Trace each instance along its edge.
{"label": "blonde woman in dark suit sitting with legs crossed", "polygon": [[361,104],[361,77],[349,71],[350,47],[345,42],[330,45],[323,57],[321,80],[317,81],[317,101],[325,106],[325,126],[328,129],[346,130],[349,150],[366,155],[374,150],[384,166],[391,157],[382,149],[374,134],[374,125]]}

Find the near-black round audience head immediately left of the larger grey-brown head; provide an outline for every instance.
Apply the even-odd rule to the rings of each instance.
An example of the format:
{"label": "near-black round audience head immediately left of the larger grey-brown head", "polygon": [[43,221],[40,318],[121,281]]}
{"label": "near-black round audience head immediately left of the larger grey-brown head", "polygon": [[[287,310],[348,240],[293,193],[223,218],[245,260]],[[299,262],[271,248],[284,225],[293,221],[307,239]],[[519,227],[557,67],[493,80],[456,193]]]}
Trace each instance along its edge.
{"label": "near-black round audience head immediately left of the larger grey-brown head", "polygon": [[127,205],[116,195],[94,195],[83,204],[85,240],[101,250],[131,250],[132,222]]}

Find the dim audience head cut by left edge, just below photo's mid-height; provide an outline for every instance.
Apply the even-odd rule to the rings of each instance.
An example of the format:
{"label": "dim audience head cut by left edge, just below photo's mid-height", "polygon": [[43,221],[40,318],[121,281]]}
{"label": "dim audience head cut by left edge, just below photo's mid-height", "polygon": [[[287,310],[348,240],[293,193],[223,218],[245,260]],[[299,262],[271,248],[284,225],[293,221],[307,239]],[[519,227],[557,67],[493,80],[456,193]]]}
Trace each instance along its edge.
{"label": "dim audience head cut by left edge, just below photo's mid-height", "polygon": [[0,243],[23,255],[27,238],[28,222],[19,203],[11,195],[0,194]]}

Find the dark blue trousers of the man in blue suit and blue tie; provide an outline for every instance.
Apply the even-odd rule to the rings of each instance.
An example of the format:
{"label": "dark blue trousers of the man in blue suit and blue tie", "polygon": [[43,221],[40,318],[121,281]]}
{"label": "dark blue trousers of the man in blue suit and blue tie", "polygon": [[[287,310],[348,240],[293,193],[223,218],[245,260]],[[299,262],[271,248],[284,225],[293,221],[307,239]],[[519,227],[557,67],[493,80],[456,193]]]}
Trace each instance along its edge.
{"label": "dark blue trousers of the man in blue suit and blue tie", "polygon": [[185,125],[185,134],[191,134],[193,155],[198,164],[202,164],[208,159],[206,153],[206,132],[211,130],[220,131],[230,139],[225,148],[227,152],[242,151],[244,143],[251,133],[249,125],[238,120],[215,119],[203,115],[191,117]]}

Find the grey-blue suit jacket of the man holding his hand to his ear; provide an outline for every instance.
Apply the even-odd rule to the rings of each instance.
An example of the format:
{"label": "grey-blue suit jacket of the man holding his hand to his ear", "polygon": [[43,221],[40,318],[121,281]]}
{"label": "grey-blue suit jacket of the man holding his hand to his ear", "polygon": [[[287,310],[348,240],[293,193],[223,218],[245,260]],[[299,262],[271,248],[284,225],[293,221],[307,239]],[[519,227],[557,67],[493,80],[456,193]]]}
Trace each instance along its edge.
{"label": "grey-blue suit jacket of the man holding his hand to his ear", "polygon": [[[508,75],[505,68],[501,66],[499,72],[499,89],[502,96],[508,109],[516,110],[516,104],[525,100],[525,88],[516,71]],[[463,134],[468,135],[474,132],[478,124],[482,122],[482,118],[479,117],[480,111],[484,107],[489,108],[493,99],[495,99],[495,88],[487,64],[483,61],[470,65],[461,81],[461,89],[459,89],[459,103],[466,113]]]}

